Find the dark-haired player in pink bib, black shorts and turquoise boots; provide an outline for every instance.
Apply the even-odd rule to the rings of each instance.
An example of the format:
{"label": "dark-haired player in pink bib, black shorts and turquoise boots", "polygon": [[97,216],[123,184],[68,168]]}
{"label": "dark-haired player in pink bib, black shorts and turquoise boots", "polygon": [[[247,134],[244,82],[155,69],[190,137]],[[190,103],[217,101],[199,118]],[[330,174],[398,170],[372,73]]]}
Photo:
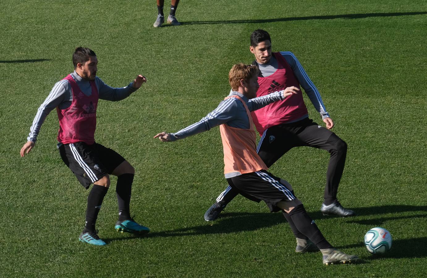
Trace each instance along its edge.
{"label": "dark-haired player in pink bib, black shorts and turquoise boots", "polygon": [[146,78],[138,75],[124,88],[111,88],[97,77],[98,59],[94,51],[83,47],[77,47],[74,51],[73,64],[74,72],[57,82],[38,108],[20,155],[23,157],[35,146],[41,125],[50,111],[56,108],[59,120],[59,154],[86,189],[94,184],[88,195],[85,228],[79,240],[93,245],[105,245],[97,235],[95,222],[110,186],[109,175],[117,176],[119,219],[114,228],[121,232],[148,233],[149,228],[139,225],[130,215],[135,169],[117,152],[96,143],[94,139],[98,99],[125,99],[140,88]]}

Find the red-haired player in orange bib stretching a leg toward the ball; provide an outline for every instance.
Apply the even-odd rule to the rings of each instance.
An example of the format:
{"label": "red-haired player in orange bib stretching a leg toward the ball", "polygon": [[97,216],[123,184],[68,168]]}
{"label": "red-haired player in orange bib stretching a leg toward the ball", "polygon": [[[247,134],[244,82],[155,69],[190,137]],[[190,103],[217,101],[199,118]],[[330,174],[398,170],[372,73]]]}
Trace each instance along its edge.
{"label": "red-haired player in orange bib stretching a leg toward the ball", "polygon": [[[296,231],[297,252],[320,249],[324,264],[359,260],[357,256],[346,255],[330,245],[308,216],[301,201],[295,197],[291,185],[267,172],[268,167],[256,152],[256,135],[250,112],[292,94],[301,93],[299,88],[288,87],[283,91],[255,98],[259,87],[255,66],[235,64],[228,77],[232,92],[215,110],[198,123],[176,133],[159,133],[154,138],[171,142],[220,126],[224,174],[228,184],[252,201],[263,200],[272,212],[283,210],[289,214],[288,222]],[[299,239],[298,234],[309,240]]]}

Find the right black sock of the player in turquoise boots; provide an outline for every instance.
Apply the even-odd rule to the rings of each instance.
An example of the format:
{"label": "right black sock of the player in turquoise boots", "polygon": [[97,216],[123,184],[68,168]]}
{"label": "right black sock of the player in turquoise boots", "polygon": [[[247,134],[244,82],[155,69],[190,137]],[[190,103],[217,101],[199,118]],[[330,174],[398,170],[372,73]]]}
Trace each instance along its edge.
{"label": "right black sock of the player in turquoise boots", "polygon": [[132,182],[134,174],[123,174],[117,178],[116,195],[119,205],[119,221],[124,221],[131,217],[130,202],[132,194]]}

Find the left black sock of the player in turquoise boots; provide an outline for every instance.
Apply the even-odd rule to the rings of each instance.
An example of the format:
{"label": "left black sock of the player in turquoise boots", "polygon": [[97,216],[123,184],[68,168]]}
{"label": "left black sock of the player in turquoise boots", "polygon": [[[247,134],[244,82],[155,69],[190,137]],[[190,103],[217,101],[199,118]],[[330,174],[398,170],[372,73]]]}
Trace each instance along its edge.
{"label": "left black sock of the player in turquoise boots", "polygon": [[86,209],[86,223],[83,232],[95,231],[95,222],[97,222],[99,209],[102,201],[107,194],[108,187],[94,184],[88,196],[88,208]]}

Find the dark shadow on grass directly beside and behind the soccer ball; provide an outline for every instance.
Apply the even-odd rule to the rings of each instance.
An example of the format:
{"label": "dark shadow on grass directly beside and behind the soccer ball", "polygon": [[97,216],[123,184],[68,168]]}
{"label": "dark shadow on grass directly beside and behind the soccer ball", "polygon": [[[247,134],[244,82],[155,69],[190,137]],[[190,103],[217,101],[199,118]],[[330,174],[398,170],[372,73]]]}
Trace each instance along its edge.
{"label": "dark shadow on grass directly beside and behind the soccer ball", "polygon": [[[424,258],[427,257],[427,237],[416,237],[409,239],[393,239],[392,249],[383,255],[369,255],[367,253],[363,260],[376,260],[379,258]],[[337,249],[364,247],[363,242],[350,245],[335,246]]]}

